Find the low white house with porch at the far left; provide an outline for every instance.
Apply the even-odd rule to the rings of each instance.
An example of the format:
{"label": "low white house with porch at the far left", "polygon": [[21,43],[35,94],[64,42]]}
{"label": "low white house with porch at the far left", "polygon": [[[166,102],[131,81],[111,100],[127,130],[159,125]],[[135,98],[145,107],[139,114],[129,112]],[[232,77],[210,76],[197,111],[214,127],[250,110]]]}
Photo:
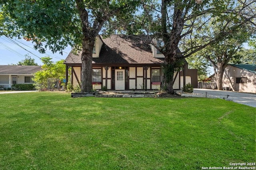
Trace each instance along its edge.
{"label": "low white house with porch at the far left", "polygon": [[12,84],[32,84],[33,74],[39,70],[41,66],[0,65],[0,90]]}

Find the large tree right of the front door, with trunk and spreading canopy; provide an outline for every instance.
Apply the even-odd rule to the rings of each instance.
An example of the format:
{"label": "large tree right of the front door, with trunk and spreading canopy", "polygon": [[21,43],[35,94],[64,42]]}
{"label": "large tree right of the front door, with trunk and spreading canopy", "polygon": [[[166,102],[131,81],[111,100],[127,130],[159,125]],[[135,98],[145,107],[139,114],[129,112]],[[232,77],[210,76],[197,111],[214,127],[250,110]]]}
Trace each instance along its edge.
{"label": "large tree right of the front door, with trunk and spreading canopy", "polygon": [[[184,59],[222,41],[243,25],[255,27],[255,6],[254,0],[142,0],[142,13],[129,24],[124,22],[121,28],[126,28],[125,33],[129,34],[144,32],[147,35],[144,41],[164,55],[164,86],[168,93],[174,93],[174,72],[181,69]],[[215,31],[208,27],[211,18],[226,22]],[[200,31],[204,29],[212,33]]]}

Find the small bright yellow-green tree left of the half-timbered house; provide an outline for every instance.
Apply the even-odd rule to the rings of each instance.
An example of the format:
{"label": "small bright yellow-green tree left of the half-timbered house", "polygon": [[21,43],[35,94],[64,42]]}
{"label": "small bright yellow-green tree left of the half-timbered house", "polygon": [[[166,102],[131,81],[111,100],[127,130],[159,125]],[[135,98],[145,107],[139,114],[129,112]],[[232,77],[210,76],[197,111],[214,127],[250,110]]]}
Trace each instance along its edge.
{"label": "small bright yellow-green tree left of the half-timbered house", "polygon": [[48,78],[56,78],[63,80],[66,76],[66,66],[63,64],[64,60],[57,61],[54,63],[50,57],[42,57],[43,63],[42,68],[34,74],[34,85],[38,90],[46,89]]}

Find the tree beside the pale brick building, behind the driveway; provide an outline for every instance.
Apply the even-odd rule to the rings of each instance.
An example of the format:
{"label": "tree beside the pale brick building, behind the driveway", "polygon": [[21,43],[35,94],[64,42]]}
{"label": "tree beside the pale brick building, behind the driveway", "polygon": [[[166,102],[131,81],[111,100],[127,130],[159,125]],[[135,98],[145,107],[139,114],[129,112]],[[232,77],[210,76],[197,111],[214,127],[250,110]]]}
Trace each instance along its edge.
{"label": "tree beside the pale brick building, behind the driveway", "polygon": [[[242,18],[241,21],[238,21],[237,18],[240,18],[240,16],[236,16],[236,18],[232,15],[225,17],[215,16],[210,18],[209,23],[206,23],[207,27],[200,30],[211,37],[215,36],[216,33],[219,33],[223,29],[230,29],[226,31],[222,39],[210,44],[202,51],[202,56],[208,59],[214,67],[218,90],[223,90],[222,78],[224,69],[228,66],[230,61],[234,63],[240,61],[241,56],[238,51],[242,48],[242,44],[248,41],[255,31],[255,25],[251,25],[250,22],[244,23],[244,18]],[[240,23],[244,24],[241,25]],[[239,25],[239,27],[237,25]],[[198,41],[202,43],[204,39],[199,39]]]}

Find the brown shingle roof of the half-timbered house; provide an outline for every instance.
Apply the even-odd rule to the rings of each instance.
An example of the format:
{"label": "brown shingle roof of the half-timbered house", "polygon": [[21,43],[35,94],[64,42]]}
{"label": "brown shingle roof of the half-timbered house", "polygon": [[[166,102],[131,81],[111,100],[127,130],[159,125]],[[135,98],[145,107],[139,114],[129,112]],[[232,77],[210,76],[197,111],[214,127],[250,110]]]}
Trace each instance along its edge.
{"label": "brown shingle roof of the half-timbered house", "polygon": [[[102,39],[103,45],[98,58],[92,64],[162,64],[164,58],[154,58],[150,45],[143,42],[142,36],[111,35]],[[179,51],[180,52],[180,51]],[[69,53],[64,64],[82,64],[82,52]]]}

